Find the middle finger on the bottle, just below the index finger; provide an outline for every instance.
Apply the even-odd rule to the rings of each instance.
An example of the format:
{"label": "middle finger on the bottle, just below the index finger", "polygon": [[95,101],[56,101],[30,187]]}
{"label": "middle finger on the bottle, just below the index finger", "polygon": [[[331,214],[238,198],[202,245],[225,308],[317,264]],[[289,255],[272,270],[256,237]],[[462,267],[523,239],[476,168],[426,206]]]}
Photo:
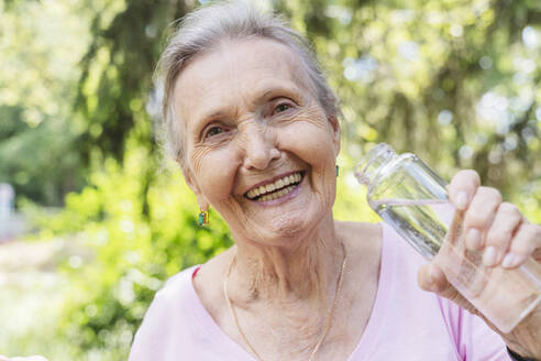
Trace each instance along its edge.
{"label": "middle finger on the bottle, just below the index finger", "polygon": [[493,223],[496,209],[501,204],[501,195],[495,188],[478,187],[464,217],[466,247],[478,250],[483,247],[486,231]]}

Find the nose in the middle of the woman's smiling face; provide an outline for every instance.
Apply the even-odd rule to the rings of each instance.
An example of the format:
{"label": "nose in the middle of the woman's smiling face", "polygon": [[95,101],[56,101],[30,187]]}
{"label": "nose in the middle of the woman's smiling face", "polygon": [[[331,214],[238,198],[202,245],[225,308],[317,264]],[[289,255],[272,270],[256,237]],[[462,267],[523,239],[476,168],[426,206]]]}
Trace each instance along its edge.
{"label": "nose in the middle of the woman's smiling face", "polygon": [[252,124],[244,130],[242,136],[244,149],[244,168],[262,171],[280,157],[276,147],[275,136],[263,124]]}

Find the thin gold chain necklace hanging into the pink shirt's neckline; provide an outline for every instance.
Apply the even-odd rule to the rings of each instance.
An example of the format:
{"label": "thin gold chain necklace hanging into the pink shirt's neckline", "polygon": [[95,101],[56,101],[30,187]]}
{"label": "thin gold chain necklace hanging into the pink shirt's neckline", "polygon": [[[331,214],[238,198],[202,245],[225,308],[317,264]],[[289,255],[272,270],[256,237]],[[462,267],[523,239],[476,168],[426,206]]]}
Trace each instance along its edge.
{"label": "thin gold chain necklace hanging into the pink shirt's neckline", "polygon": [[[332,318],[334,316],[334,309],[336,308],[336,304],[338,304],[338,300],[339,300],[339,297],[340,297],[340,293],[342,291],[342,281],[344,278],[345,263],[346,263],[346,260],[347,260],[346,254],[345,254],[344,243],[342,243],[342,249],[344,250],[344,261],[342,261],[342,270],[340,271],[340,275],[339,275],[339,278],[338,278],[338,282],[336,282],[338,283],[336,284],[336,292],[334,294],[334,300],[332,302],[331,311],[329,313],[329,318],[327,319],[325,328],[324,328],[323,332],[321,333],[321,336],[319,337],[318,343],[316,343],[316,347],[313,348],[312,353],[310,354],[310,358],[308,359],[308,361],[312,361],[313,360],[313,355],[316,354],[316,352],[318,352],[321,343],[323,343],[323,340],[325,339],[327,333],[329,333],[329,329],[331,328],[331,325],[332,325]],[[231,299],[229,298],[229,294],[228,294],[228,278],[229,278],[229,275],[231,274],[231,270],[233,269],[233,264],[235,263],[235,261],[236,261],[236,254],[233,255],[233,258],[231,259],[231,263],[229,265],[228,274],[225,275],[225,280],[223,280],[223,295],[225,296],[225,302],[228,303],[229,310],[230,310],[231,316],[233,317],[233,319],[235,321],[236,329],[239,330],[239,333],[241,333],[242,339],[249,346],[250,350],[252,350],[252,352],[257,357],[257,359],[260,361],[263,361],[263,358],[257,353],[257,351],[255,351],[255,349],[252,346],[252,343],[250,343],[250,341],[247,340],[246,335],[244,335],[244,332],[242,331],[241,325],[239,324],[239,318],[236,317],[236,311],[233,308],[233,305],[231,304]]]}

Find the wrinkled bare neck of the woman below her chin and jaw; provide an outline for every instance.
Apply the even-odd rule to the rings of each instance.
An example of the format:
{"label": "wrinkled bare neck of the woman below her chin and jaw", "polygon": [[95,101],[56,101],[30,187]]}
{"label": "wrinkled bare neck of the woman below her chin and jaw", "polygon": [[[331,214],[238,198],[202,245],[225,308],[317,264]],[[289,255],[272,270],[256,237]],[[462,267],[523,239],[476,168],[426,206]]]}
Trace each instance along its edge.
{"label": "wrinkled bare neck of the woman below her chin and jaw", "polygon": [[236,299],[290,302],[328,298],[335,288],[344,254],[334,231],[332,215],[301,239],[287,247],[238,242],[231,283],[236,284]]}

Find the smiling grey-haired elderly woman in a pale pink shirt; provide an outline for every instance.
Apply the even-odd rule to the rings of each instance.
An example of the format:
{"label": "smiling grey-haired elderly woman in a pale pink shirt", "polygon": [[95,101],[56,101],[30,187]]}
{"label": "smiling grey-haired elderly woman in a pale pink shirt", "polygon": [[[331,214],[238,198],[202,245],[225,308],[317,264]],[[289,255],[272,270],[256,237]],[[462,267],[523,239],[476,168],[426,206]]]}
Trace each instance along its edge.
{"label": "smiling grey-haired elderly woman in a pale pink shirt", "polygon": [[[211,206],[235,245],[167,282],[131,361],[541,358],[541,309],[498,335],[390,228],[333,219],[336,97],[281,21],[238,2],[205,7],[161,69],[168,145],[201,221]],[[518,267],[541,248],[541,228],[475,172],[449,190],[485,264]]]}

